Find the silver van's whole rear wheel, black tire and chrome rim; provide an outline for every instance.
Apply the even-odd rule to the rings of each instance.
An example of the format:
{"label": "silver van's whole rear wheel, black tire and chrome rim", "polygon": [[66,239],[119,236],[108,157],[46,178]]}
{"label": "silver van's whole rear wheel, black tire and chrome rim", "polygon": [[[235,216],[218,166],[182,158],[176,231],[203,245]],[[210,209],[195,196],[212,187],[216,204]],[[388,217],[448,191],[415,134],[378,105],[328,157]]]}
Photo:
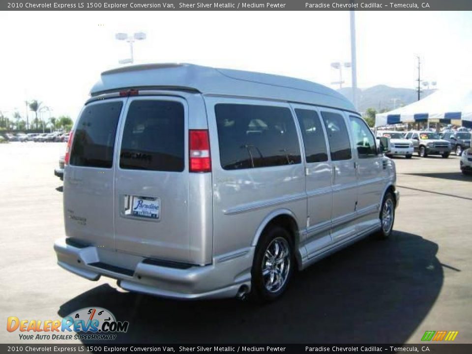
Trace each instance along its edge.
{"label": "silver van's whole rear wheel, black tire and chrome rim", "polygon": [[294,268],[290,234],[280,226],[270,227],[256,246],[249,298],[257,303],[274,301],[284,293]]}

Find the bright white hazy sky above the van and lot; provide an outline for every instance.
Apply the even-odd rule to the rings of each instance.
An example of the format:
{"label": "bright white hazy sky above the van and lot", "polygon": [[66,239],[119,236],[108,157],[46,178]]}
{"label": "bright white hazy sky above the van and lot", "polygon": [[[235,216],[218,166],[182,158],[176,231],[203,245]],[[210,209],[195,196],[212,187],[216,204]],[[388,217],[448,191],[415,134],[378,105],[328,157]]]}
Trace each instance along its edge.
{"label": "bright white hazy sky above the van and lot", "polygon": [[[128,57],[116,32],[144,31],[135,63],[189,62],[330,85],[350,61],[348,11],[0,12],[0,110],[37,99],[76,118],[100,72]],[[416,55],[438,88],[472,82],[472,12],[356,12],[357,82],[414,88]],[[351,72],[344,71],[346,86]],[[32,117],[31,112],[29,113]],[[45,115],[47,118],[48,115]]]}

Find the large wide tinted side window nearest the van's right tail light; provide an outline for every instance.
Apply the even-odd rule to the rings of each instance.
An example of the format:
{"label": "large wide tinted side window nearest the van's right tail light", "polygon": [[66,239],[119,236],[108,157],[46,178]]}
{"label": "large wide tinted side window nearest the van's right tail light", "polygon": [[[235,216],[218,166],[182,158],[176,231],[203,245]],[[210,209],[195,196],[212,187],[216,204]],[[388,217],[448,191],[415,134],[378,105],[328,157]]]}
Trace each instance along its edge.
{"label": "large wide tinted side window nearest the van's right tail light", "polygon": [[215,105],[221,167],[239,170],[301,163],[291,111],[285,107]]}

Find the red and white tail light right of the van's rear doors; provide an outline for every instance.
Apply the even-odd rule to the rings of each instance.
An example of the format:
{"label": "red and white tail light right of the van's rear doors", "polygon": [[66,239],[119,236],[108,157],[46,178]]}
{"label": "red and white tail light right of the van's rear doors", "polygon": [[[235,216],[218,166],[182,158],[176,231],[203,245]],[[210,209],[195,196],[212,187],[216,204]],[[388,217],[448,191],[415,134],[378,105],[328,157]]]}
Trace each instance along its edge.
{"label": "red and white tail light right of the van's rear doors", "polygon": [[207,129],[189,131],[190,172],[211,172],[210,141]]}

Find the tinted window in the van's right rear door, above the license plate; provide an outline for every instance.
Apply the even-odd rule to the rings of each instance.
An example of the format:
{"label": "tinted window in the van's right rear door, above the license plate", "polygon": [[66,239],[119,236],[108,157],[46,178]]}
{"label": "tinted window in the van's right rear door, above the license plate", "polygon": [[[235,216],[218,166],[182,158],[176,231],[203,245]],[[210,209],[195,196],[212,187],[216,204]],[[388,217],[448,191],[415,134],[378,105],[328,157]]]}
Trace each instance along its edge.
{"label": "tinted window in the van's right rear door, above the license plate", "polygon": [[119,167],[181,172],[185,149],[184,110],[179,102],[138,100],[124,125]]}

